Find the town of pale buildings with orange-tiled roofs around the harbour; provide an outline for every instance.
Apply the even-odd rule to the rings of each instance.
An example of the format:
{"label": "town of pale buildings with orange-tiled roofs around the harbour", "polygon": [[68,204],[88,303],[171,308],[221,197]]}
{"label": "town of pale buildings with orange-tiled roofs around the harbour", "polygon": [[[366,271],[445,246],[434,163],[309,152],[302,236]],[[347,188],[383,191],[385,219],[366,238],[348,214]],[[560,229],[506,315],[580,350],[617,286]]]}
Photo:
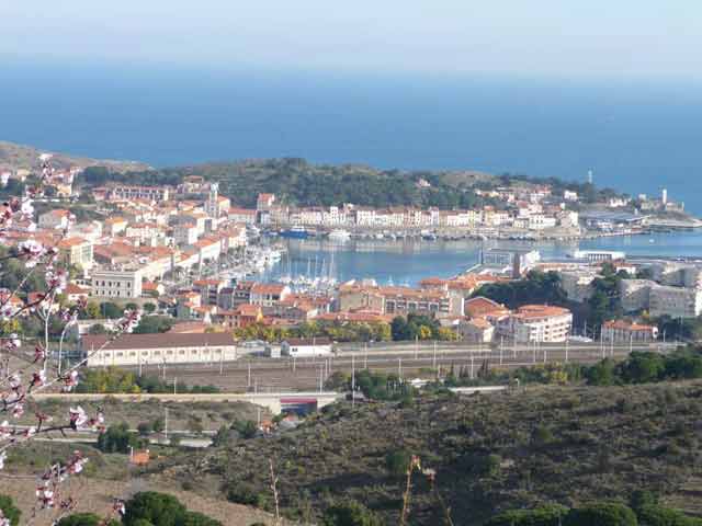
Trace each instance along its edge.
{"label": "town of pale buildings with orange-tiled roofs around the harbour", "polygon": [[[13,224],[3,232],[4,243],[58,249],[71,270],[68,298],[83,298],[98,310],[77,323],[78,352],[89,353],[104,342],[106,336],[100,331],[109,333],[114,323],[105,306],[136,305],[151,316],[172,320],[167,336],[127,335],[117,345],[90,352],[89,366],[236,361],[244,352],[245,330],[250,327],[281,331],[310,322],[388,325],[397,317],[412,315],[435,320],[445,339],[487,345],[498,341],[562,343],[571,338],[650,342],[659,333],[648,320],[702,313],[701,266],[631,262],[624,253],[612,251],[576,251],[567,261],[542,261],[536,250],[488,248],[482,251],[478,265],[467,268],[466,263],[466,271],[452,278],[426,276],[416,287],[378,285],[364,276],[343,283],[330,276],[321,283],[320,278],[314,283],[257,279],[262,268],[280,262],[285,250],[275,244],[275,235],[307,235],[309,228],[321,229],[331,238],[342,238],[339,232],[343,228],[365,227],[455,227],[466,232],[500,227],[580,235],[588,229],[631,232],[645,220],[646,216],[638,214],[604,211],[599,219],[588,215],[584,221],[569,206],[578,202],[578,195],[567,191],[553,195],[547,185],[491,191],[490,197],[506,204],[503,209],[371,209],[351,204],[294,208],[274,194],[260,194],[256,209],[246,209],[231,206],[228,197],[219,195],[217,183],[193,175],[174,187],[112,184],[87,188],[102,216],[78,220],[71,211],[77,173],[53,172],[49,181],[56,198],[45,199],[52,206],[38,214],[36,224]],[[4,171],[2,182],[8,185],[30,175]],[[649,204],[661,209],[681,206],[668,202],[665,191],[660,199]],[[608,207],[622,205],[609,203]],[[574,312],[565,306],[508,308],[478,294],[485,285],[525,279],[536,271],[555,273],[568,304],[585,305],[596,293],[598,279],[604,277],[604,266],[625,277],[618,284],[622,312],[589,331],[587,322],[584,328],[579,321],[576,324]],[[14,307],[22,309],[32,301],[32,294],[13,298]],[[239,334],[236,341],[233,333]],[[331,341],[320,342],[299,341],[294,348],[332,345]],[[315,352],[310,348],[308,354]],[[328,351],[325,348],[319,352]]]}

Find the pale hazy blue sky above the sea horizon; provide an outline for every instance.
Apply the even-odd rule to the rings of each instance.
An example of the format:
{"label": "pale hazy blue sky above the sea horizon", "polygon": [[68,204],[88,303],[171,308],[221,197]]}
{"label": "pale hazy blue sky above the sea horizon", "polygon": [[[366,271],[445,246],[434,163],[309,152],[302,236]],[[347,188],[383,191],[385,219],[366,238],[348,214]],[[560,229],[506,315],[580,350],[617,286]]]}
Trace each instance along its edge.
{"label": "pale hazy blue sky above the sea horizon", "polygon": [[0,59],[684,78],[701,49],[700,0],[0,0]]}

